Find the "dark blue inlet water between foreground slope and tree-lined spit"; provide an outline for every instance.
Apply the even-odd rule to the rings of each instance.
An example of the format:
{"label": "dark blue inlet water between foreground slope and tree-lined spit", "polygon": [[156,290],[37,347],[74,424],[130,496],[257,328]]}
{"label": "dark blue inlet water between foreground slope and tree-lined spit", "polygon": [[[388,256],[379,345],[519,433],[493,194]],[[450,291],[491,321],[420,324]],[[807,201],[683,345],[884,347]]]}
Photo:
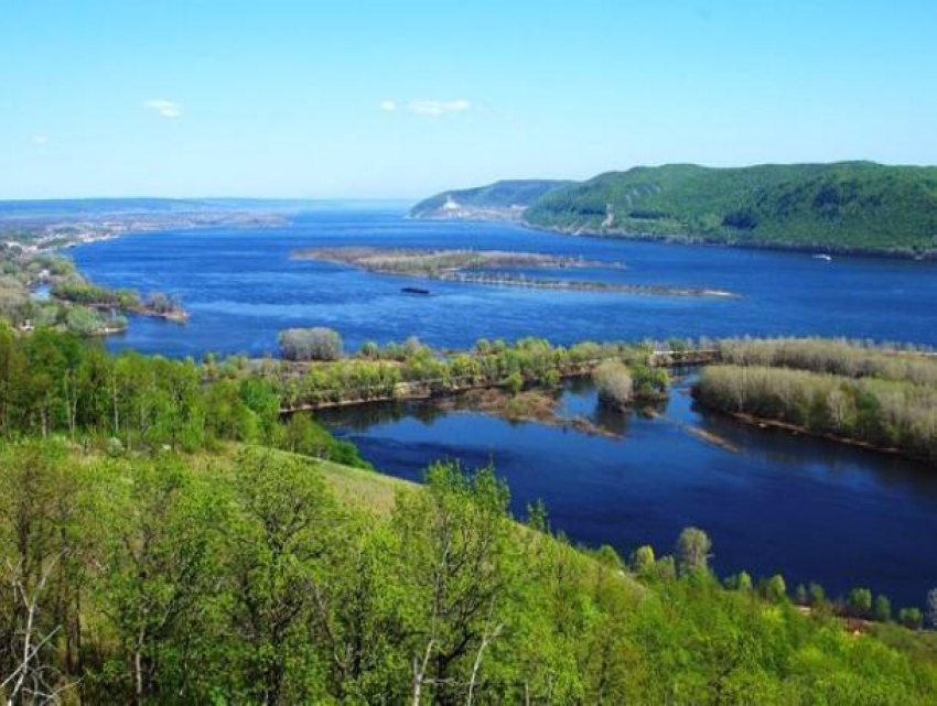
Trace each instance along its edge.
{"label": "dark blue inlet water between foreground slope and tree-lined spit", "polygon": [[441,458],[494,463],[516,513],[541,498],[553,526],[577,542],[607,543],[624,555],[645,543],[669,552],[692,524],[712,536],[721,574],[779,572],[791,587],[819,580],[844,593],[865,585],[898,604],[922,602],[937,584],[937,555],[926,551],[937,536],[934,469],[739,424],[699,409],[689,380],[675,385],[659,416],[615,412],[599,404],[586,380],[570,382],[563,413],[617,438],[445,413],[432,402],[320,417],[377,468],[411,480]]}

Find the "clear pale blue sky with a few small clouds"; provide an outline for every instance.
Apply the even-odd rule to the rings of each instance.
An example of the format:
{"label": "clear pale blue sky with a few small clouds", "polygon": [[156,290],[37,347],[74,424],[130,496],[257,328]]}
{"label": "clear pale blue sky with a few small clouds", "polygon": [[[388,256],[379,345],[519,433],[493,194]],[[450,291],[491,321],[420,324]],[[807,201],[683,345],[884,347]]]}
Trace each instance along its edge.
{"label": "clear pale blue sky with a few small clouds", "polygon": [[0,198],[937,164],[935,0],[0,0]]}

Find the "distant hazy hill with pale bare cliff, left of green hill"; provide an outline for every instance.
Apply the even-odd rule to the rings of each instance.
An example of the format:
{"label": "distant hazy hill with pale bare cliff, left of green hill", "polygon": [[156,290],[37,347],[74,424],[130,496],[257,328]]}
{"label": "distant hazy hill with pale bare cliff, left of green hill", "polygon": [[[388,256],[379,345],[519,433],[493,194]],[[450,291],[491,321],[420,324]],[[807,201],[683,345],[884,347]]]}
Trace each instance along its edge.
{"label": "distant hazy hill with pale bare cliff, left of green hill", "polygon": [[410,209],[410,218],[427,220],[517,220],[524,209],[573,182],[515,180],[487,186],[442,192]]}

